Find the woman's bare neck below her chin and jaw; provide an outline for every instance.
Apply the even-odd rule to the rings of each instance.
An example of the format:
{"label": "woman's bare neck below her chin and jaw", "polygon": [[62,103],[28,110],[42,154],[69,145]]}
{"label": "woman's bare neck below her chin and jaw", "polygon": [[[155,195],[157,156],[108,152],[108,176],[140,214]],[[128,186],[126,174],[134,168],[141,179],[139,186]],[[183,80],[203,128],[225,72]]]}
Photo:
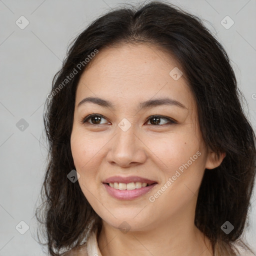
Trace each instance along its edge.
{"label": "woman's bare neck below her chin and jaw", "polygon": [[144,230],[123,231],[102,220],[98,246],[102,256],[119,255],[175,255],[212,256],[209,239],[187,215],[171,218]]}

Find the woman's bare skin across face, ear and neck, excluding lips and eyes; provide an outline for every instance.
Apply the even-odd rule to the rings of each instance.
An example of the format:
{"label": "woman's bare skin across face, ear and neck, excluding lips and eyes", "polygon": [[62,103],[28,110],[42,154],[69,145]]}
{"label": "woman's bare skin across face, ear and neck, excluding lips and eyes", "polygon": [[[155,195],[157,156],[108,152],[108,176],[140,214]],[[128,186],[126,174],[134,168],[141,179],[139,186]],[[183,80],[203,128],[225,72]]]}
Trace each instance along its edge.
{"label": "woman's bare skin across face, ear and neck, excluding lips and eyes", "polygon": [[[81,190],[102,218],[98,246],[103,256],[212,255],[209,240],[194,225],[194,211],[205,168],[217,167],[224,154],[218,159],[205,146],[184,73],[178,80],[169,75],[176,66],[182,70],[156,46],[119,44],[100,50],[80,77],[71,151]],[[78,107],[88,96],[109,100],[115,109],[90,102]],[[137,110],[141,101],[166,96],[185,108],[160,105]],[[91,113],[103,115],[101,121],[90,118],[81,123]],[[154,114],[177,123],[161,118],[157,125],[147,120]],[[127,131],[118,127],[123,118],[131,124]],[[158,198],[149,201],[197,151],[200,156]],[[113,175],[137,175],[158,184],[136,199],[121,200],[110,196],[102,184]],[[128,232],[118,228],[123,221],[129,225]]]}

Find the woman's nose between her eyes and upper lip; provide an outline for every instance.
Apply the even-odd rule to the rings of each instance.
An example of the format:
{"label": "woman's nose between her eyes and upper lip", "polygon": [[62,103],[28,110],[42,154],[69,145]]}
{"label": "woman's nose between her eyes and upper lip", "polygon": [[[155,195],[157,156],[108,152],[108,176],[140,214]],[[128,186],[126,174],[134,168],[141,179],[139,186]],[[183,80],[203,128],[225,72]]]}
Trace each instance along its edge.
{"label": "woman's nose between her eyes and upper lip", "polygon": [[125,168],[145,162],[147,147],[135,132],[132,125],[126,131],[123,131],[119,126],[116,127],[106,156],[110,164]]}

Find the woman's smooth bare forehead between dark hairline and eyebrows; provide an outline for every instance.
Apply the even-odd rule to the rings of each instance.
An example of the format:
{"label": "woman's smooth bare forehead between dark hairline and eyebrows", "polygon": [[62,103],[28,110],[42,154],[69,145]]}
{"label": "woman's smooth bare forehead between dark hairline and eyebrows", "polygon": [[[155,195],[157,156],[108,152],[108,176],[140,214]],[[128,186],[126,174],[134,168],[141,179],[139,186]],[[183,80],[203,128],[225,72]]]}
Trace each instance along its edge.
{"label": "woman's smooth bare forehead between dark hairline and eyebrows", "polygon": [[174,57],[153,45],[120,44],[101,49],[81,74],[76,102],[85,96],[111,101],[125,98],[129,103],[170,96],[189,108],[194,100],[184,72],[178,79],[171,76],[177,68],[182,71]]}

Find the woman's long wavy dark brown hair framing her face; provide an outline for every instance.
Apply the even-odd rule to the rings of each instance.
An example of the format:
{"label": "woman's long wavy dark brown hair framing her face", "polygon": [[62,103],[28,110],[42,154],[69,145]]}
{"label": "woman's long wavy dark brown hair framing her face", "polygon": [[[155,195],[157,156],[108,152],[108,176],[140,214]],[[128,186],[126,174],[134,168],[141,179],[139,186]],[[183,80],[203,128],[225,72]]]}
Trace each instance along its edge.
{"label": "woman's long wavy dark brown hair framing her face", "polygon": [[[97,18],[70,44],[53,78],[43,116],[49,143],[48,165],[41,189],[43,202],[36,210],[38,221],[45,227],[50,255],[62,255],[85,244],[91,221],[100,229],[100,217],[78,182],[67,178],[75,169],[70,149],[75,92],[86,68],[84,64],[78,70],[77,64],[95,49],[120,43],[152,44],[179,61],[196,100],[206,145],[218,155],[226,153],[220,166],[205,169],[194,223],[210,239],[214,255],[236,255],[234,242],[240,240],[246,224],[254,184],[255,134],[244,115],[242,94],[221,44],[198,17],[158,1],[117,8]],[[74,68],[78,73],[65,80]],[[220,228],[226,220],[234,226],[228,234]],[[240,243],[249,250],[244,242]]]}

